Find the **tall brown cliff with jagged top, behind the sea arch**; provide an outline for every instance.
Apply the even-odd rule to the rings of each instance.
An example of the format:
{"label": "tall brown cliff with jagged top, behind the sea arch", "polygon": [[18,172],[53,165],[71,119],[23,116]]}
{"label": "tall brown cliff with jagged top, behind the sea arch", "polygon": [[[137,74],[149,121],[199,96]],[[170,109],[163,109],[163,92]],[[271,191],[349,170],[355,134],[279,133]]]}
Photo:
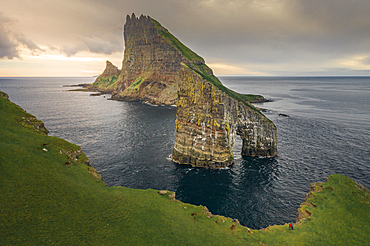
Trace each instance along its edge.
{"label": "tall brown cliff with jagged top, behind the sea arch", "polygon": [[[107,78],[102,74],[105,79],[99,77],[93,88],[112,93],[112,98],[117,100],[175,104],[181,62],[204,64],[204,60],[185,46],[175,47],[168,42],[173,38],[149,16],[127,16],[122,70],[118,77]],[[187,49],[188,57],[184,56],[181,48]]]}

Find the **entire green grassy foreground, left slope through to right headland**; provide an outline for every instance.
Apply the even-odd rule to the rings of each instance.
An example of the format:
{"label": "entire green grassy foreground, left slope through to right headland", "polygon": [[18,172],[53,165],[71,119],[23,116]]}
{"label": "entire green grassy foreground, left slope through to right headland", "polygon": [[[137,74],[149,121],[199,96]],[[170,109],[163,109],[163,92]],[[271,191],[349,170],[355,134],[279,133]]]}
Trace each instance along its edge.
{"label": "entire green grassy foreground, left slope through to right headland", "polygon": [[[1,93],[0,93],[1,94]],[[107,187],[80,147],[45,134],[0,95],[0,245],[368,245],[370,195],[332,175],[300,208],[306,220],[248,230],[172,192]],[[29,120],[33,119],[33,120]],[[322,188],[320,188],[322,187]],[[309,214],[311,216],[307,217]]]}

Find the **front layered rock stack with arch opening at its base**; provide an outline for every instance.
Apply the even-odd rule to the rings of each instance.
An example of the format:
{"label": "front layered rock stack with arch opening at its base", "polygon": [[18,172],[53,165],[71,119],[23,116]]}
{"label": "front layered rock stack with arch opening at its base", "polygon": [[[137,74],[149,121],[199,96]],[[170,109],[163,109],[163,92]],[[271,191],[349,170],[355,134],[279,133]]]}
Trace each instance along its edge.
{"label": "front layered rock stack with arch opening at its base", "polygon": [[[216,84],[217,85],[217,84]],[[243,139],[242,155],[277,154],[275,125],[248,102],[228,94],[183,64],[178,87],[175,147],[172,160],[221,168],[234,162],[235,136]]]}

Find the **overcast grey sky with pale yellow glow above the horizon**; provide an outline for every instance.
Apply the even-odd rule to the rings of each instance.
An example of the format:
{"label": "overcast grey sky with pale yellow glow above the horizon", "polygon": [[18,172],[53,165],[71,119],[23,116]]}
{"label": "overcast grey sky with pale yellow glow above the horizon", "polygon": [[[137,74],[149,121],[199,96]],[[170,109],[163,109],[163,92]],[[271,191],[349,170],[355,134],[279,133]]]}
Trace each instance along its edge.
{"label": "overcast grey sky with pale yellow glow above the horizon", "polygon": [[126,15],[149,15],[216,75],[370,75],[369,0],[0,0],[0,76],[121,67]]}

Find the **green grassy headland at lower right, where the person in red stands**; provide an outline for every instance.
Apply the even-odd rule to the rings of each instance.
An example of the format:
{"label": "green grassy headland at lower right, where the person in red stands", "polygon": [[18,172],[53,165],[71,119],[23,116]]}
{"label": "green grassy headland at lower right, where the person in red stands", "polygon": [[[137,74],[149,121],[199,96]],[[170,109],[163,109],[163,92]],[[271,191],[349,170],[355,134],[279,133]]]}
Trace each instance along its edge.
{"label": "green grassy headland at lower right, where the person in red stands", "polygon": [[254,236],[267,245],[369,245],[369,190],[339,174],[312,185],[315,191],[299,208],[303,217],[293,231],[271,226]]}

